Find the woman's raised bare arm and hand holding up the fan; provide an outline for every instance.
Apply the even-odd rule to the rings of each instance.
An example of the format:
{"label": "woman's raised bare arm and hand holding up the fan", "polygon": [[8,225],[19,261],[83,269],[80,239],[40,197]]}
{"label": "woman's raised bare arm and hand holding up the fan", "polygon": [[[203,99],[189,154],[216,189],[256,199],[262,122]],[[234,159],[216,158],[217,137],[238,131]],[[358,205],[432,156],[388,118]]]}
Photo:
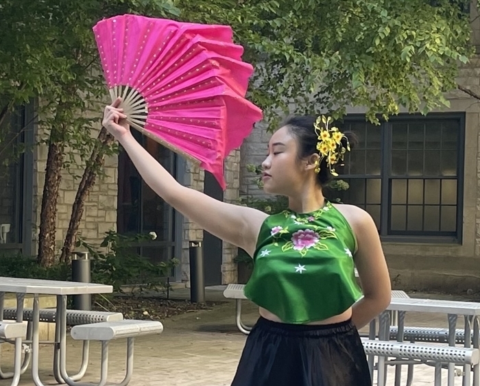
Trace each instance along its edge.
{"label": "woman's raised bare arm and hand holding up the fan", "polygon": [[252,256],[267,215],[260,210],[215,200],[179,184],[132,136],[126,116],[117,108],[119,104],[117,99],[106,107],[103,125],[121,143],[145,183],[182,215]]}

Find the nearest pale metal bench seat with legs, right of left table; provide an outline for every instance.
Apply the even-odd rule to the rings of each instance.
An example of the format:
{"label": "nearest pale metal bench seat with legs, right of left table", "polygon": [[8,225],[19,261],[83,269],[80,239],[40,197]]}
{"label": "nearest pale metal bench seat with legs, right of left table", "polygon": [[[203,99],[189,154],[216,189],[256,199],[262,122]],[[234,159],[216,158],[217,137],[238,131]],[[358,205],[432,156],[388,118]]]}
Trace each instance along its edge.
{"label": "nearest pale metal bench seat with legs, right of left table", "polygon": [[[102,322],[74,326],[71,337],[83,341],[101,341],[101,367],[100,381],[97,385],[105,385],[108,378],[108,343],[113,339],[127,339],[127,367],[125,377],[119,386],[128,385],[133,372],[133,349],[134,338],[142,335],[160,334],[163,332],[163,324],[153,320],[125,319],[119,322]],[[70,386],[86,386],[91,383],[75,382],[72,378],[64,377]]]}

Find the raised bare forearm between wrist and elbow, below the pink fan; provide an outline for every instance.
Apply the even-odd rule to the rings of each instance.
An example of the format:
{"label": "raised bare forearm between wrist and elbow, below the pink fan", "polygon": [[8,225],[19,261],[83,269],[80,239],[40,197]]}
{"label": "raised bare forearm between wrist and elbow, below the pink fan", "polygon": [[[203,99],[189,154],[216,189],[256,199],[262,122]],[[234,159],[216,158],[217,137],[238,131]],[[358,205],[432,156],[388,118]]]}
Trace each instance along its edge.
{"label": "raised bare forearm between wrist and elbow, below the pink fan", "polygon": [[119,138],[119,143],[128,153],[130,160],[132,160],[145,183],[163,200],[171,204],[172,197],[175,196],[181,185],[136,141],[130,132]]}

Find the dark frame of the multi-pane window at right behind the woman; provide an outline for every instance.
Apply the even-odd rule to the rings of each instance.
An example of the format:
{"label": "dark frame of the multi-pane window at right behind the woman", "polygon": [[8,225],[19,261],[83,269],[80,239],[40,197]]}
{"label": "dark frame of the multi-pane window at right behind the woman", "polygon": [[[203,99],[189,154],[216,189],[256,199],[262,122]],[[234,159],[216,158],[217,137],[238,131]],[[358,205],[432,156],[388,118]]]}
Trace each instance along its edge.
{"label": "dark frame of the multi-pane window at right behind the woman", "polygon": [[[392,123],[396,122],[412,122],[412,121],[433,121],[442,119],[455,119],[459,123],[459,133],[457,141],[457,176],[392,176],[390,169],[391,151],[392,151]],[[387,242],[416,242],[416,243],[461,243],[463,238],[463,213],[464,213],[464,156],[465,156],[465,112],[444,112],[431,113],[427,116],[422,114],[398,114],[389,121],[381,120],[381,171],[380,176],[370,174],[341,174],[339,179],[363,179],[365,181],[372,179],[381,180],[381,200],[380,200],[380,229],[379,234],[382,241]],[[364,114],[348,114],[344,119],[344,123],[361,122],[365,123]],[[355,152],[355,149],[353,150]],[[403,180],[457,180],[457,230],[455,234],[441,234],[432,231],[422,234],[416,232],[389,232],[389,219],[391,219],[392,203],[390,184],[394,179]],[[366,186],[366,183],[365,183]],[[365,187],[366,189],[366,187]],[[366,198],[365,198],[366,201]],[[422,206],[426,206],[425,203]]]}

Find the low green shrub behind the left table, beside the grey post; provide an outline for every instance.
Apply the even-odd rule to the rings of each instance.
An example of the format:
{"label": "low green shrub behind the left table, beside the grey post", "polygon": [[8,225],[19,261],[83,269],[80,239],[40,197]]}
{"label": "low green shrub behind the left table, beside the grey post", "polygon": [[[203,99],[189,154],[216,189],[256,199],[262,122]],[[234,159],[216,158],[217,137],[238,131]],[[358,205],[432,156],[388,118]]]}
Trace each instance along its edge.
{"label": "low green shrub behind the left table, beside the grey post", "polygon": [[77,247],[89,252],[92,263],[92,281],[112,285],[114,291],[131,293],[145,289],[158,291],[167,287],[166,278],[180,262],[172,258],[167,262],[151,263],[137,252],[136,245],[152,241],[152,234],[123,236],[117,232],[106,233],[100,248],[95,248],[79,238]]}

